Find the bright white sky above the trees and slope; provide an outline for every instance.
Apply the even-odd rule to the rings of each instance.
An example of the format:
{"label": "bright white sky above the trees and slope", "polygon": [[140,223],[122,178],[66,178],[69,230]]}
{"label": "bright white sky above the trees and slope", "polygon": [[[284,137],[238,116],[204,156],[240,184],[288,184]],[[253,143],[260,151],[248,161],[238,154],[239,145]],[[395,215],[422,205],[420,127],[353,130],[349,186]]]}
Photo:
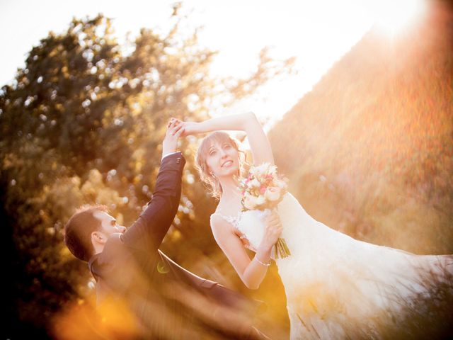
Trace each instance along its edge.
{"label": "bright white sky above the trees and slope", "polygon": [[[394,29],[422,0],[185,0],[194,27],[202,26],[200,43],[218,50],[211,72],[246,77],[258,64],[258,54],[271,47],[275,59],[297,57],[297,75],[270,81],[258,96],[229,108],[228,113],[253,111],[277,120],[316,84],[374,25]],[[120,41],[140,28],[165,32],[170,26],[168,0],[0,0],[0,86],[10,84],[27,53],[50,30],[63,33],[71,18],[103,13],[114,18]],[[415,11],[415,10],[414,10]]]}

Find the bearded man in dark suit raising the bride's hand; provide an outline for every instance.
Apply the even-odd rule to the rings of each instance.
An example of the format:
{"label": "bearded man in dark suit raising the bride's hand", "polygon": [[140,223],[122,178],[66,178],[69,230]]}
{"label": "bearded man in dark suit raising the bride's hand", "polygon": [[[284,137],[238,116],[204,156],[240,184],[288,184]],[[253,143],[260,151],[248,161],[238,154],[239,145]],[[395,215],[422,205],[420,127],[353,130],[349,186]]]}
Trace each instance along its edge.
{"label": "bearded man in dark suit raising the bride's hand", "polygon": [[131,227],[117,225],[105,207],[91,206],[72,215],[64,242],[88,261],[103,321],[120,309],[128,332],[122,335],[129,339],[268,339],[251,325],[256,302],[195,276],[158,249],[180,200],[181,126],[168,123],[153,196]]}

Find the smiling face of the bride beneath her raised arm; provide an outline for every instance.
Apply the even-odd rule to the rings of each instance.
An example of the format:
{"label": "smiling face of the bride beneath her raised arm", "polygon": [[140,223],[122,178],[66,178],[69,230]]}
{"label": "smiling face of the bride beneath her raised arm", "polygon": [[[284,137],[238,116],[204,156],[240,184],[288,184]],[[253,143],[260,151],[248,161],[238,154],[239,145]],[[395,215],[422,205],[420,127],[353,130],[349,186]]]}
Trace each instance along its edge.
{"label": "smiling face of the bride beneath her raised arm", "polygon": [[213,142],[207,150],[206,164],[217,178],[234,176],[239,170],[239,152],[229,142]]}

